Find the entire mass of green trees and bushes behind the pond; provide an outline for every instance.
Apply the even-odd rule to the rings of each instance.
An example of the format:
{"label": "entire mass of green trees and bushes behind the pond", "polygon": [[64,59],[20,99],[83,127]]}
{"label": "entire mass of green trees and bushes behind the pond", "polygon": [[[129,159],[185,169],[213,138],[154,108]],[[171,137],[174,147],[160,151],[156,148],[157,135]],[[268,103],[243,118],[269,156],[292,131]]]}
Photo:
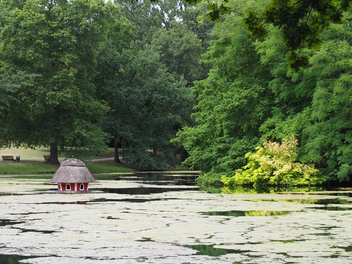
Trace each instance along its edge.
{"label": "entire mass of green trees and bushes behind the pond", "polygon": [[[351,20],[349,0],[1,1],[0,144],[58,162],[110,138],[143,170],[184,148],[199,182],[349,180]],[[294,160],[271,156],[291,135]]]}

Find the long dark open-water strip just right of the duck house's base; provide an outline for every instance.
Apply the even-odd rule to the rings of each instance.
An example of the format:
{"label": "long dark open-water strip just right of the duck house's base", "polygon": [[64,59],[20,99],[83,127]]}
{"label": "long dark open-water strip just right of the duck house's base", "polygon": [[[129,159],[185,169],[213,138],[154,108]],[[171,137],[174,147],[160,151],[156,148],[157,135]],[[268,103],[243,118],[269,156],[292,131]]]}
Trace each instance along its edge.
{"label": "long dark open-water strip just right of the duck house's base", "polygon": [[161,194],[166,192],[179,192],[179,191],[198,191],[199,187],[187,188],[154,188],[154,187],[138,187],[138,188],[94,188],[94,190],[102,191],[111,194],[129,194],[129,195],[149,195]]}

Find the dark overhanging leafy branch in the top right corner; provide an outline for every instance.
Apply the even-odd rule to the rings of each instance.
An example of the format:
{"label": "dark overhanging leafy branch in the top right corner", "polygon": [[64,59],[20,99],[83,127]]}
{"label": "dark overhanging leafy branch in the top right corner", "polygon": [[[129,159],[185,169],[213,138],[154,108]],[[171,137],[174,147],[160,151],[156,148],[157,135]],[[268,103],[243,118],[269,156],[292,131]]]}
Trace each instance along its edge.
{"label": "dark overhanging leafy branch in the top right corner", "polygon": [[308,66],[308,56],[300,55],[302,47],[318,49],[322,42],[321,31],[332,22],[340,23],[351,2],[271,0],[260,14],[248,10],[243,21],[251,35],[260,38],[267,36],[264,24],[280,28],[282,41],[288,48],[289,67],[297,71]]}

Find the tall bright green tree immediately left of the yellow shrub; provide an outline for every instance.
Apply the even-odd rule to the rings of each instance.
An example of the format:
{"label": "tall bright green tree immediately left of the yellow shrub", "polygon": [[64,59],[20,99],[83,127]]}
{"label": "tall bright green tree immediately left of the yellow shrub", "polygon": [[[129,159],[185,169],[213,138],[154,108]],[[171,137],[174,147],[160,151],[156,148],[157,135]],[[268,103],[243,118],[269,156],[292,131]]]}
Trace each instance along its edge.
{"label": "tall bright green tree immediately left of the yellow shrub", "polygon": [[[247,8],[245,1],[237,4]],[[236,30],[229,31],[234,25]],[[260,64],[242,18],[224,18],[213,33],[219,40],[204,56],[213,69],[192,88],[197,125],[184,127],[174,142],[189,153],[185,164],[219,176],[244,166],[244,154],[260,140],[258,128],[270,112],[272,98],[266,89],[269,71]]]}

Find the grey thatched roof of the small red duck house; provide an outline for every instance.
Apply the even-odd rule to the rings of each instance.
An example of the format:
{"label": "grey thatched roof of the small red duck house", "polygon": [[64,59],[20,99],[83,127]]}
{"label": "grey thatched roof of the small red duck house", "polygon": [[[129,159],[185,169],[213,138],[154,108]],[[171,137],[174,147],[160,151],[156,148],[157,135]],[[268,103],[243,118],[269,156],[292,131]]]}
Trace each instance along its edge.
{"label": "grey thatched roof of the small red duck house", "polygon": [[61,162],[51,182],[57,183],[84,183],[94,182],[86,164],[79,159],[69,158]]}

